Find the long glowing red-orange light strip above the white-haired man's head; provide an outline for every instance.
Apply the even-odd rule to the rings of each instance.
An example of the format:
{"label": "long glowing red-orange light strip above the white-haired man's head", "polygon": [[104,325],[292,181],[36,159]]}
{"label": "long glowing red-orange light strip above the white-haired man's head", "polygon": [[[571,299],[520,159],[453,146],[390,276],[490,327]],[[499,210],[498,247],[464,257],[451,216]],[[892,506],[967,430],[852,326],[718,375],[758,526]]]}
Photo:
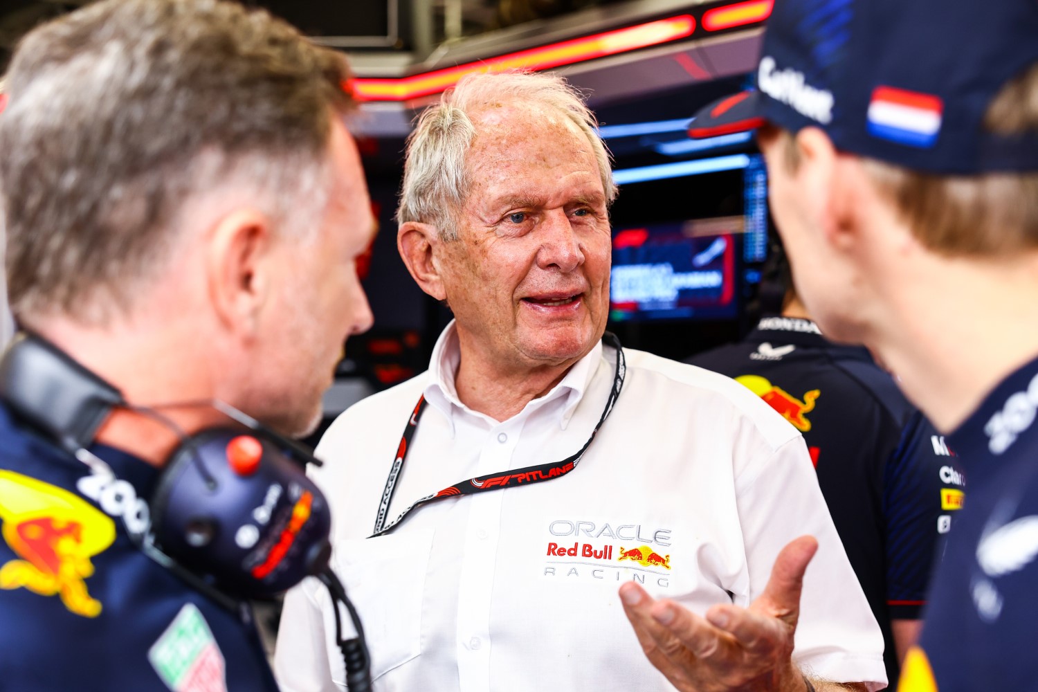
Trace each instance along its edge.
{"label": "long glowing red-orange light strip above the white-haired man's head", "polygon": [[665,44],[689,36],[694,30],[695,19],[691,15],[681,15],[403,79],[357,78],[350,86],[360,101],[408,101],[444,91],[471,73],[550,70]]}

